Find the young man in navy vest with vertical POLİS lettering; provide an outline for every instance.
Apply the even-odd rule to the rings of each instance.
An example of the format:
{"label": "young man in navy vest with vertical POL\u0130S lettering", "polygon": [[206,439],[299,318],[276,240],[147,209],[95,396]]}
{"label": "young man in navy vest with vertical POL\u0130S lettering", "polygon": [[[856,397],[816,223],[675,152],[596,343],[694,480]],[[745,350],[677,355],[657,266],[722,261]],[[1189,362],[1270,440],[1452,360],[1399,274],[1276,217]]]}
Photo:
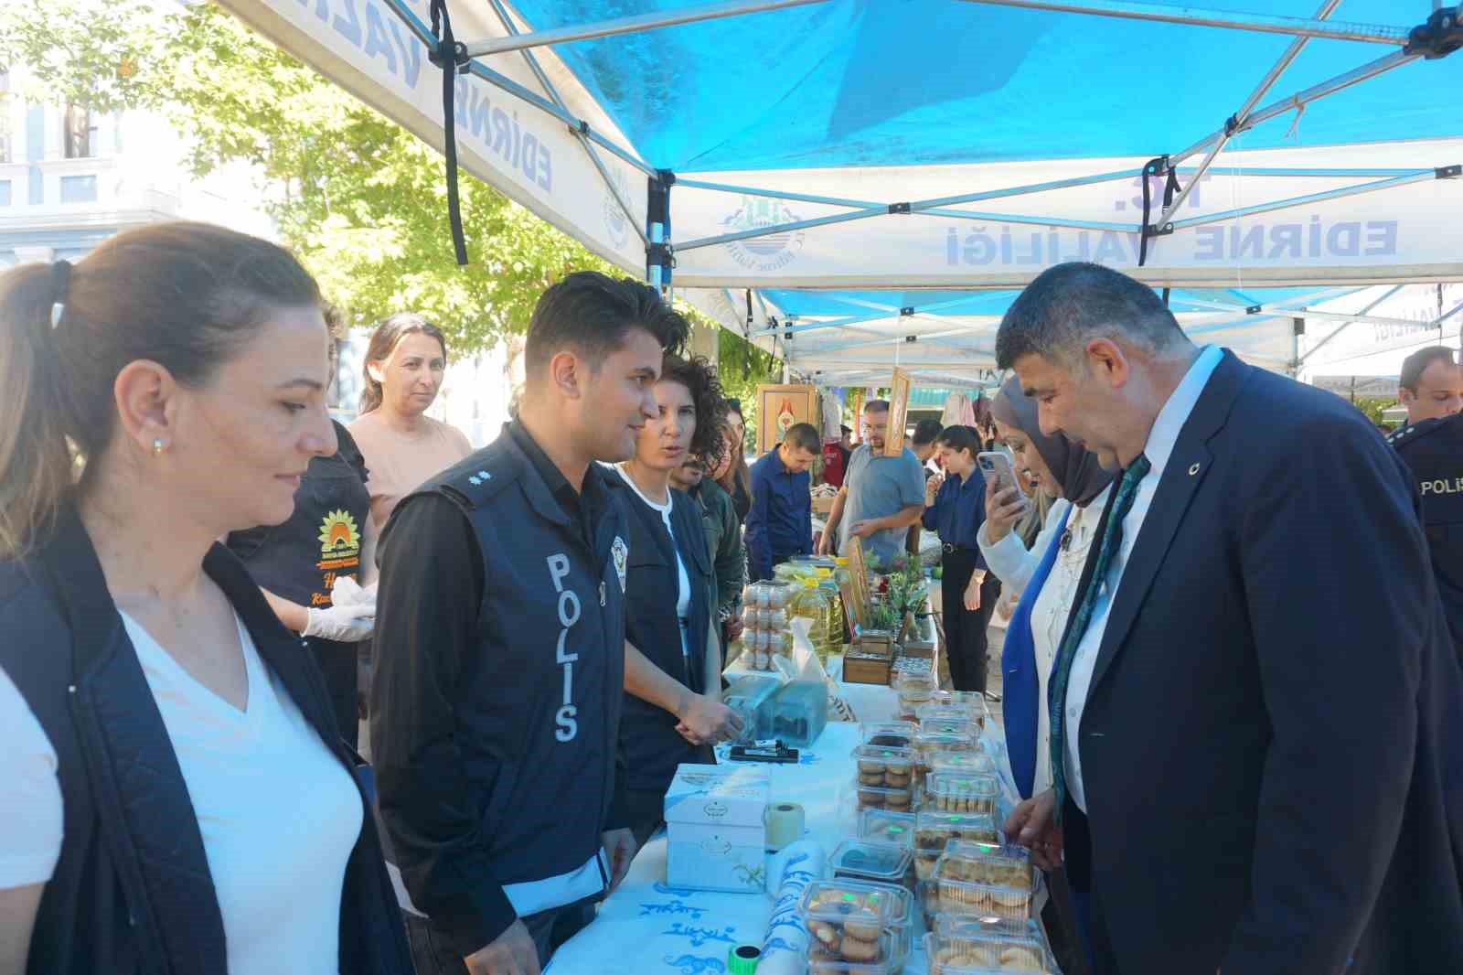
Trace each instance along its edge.
{"label": "young man in navy vest with vertical POL\u0130S lettering", "polygon": [[635,452],[686,332],[644,284],[554,284],[516,419],[382,533],[370,739],[418,975],[538,975],[635,855],[607,823],[629,533],[595,461]]}

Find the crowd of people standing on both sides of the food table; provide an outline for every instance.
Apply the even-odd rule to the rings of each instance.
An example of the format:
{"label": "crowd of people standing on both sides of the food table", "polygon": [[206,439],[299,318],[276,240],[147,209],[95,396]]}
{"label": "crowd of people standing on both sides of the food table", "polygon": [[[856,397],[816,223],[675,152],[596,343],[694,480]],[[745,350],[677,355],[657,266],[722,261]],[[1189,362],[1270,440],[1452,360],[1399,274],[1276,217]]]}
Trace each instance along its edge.
{"label": "crowd of people standing on both sides of the food table", "polygon": [[844,427],[815,533],[819,430],[749,466],[648,285],[549,287],[478,451],[427,416],[417,315],[335,423],[339,328],[288,252],[203,224],[0,277],[0,974],[537,975],[740,733],[745,583],[919,530],[957,690],[1009,615],[1005,830],[1080,965],[1457,971],[1451,354],[1409,360],[1393,449],[1059,265],[976,426]]}

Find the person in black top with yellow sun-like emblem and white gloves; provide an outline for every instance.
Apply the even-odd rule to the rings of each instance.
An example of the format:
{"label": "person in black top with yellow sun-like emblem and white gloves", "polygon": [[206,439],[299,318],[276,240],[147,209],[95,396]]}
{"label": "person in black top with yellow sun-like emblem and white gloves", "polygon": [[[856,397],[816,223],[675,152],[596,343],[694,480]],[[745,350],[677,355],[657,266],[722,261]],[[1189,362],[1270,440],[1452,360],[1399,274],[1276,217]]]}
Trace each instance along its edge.
{"label": "person in black top with yellow sun-like emblem and white gloves", "polygon": [[[339,340],[341,316],[325,310],[331,337]],[[338,348],[331,344],[331,378]],[[364,602],[335,606],[335,580],[358,580],[361,550],[370,524],[366,461],[350,432],[331,420],[339,448],[332,457],[315,457],[294,492],[294,514],[284,524],[233,531],[225,543],[244,561],[269,608],[310,646],[325,675],[325,688],[341,738],[357,747],[360,710],[356,688],[357,643],[372,634],[376,618],[375,589]]]}

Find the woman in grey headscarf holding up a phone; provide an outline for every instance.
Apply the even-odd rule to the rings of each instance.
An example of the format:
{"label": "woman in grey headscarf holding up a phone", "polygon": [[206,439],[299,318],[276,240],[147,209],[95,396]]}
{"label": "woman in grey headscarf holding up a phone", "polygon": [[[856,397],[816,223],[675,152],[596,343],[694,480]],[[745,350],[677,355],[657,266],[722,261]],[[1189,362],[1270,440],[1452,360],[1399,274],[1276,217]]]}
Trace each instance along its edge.
{"label": "woman in grey headscarf holding up a phone", "polygon": [[[1015,455],[1017,470],[1058,498],[1046,528],[1027,549],[1012,531],[1026,509],[1020,489],[988,490],[986,521],[976,539],[990,571],[1008,587],[1023,590],[1007,625],[1001,672],[1007,754],[1015,786],[1026,798],[1052,785],[1046,682],[1102,521],[1112,474],[1097,464],[1094,454],[1065,436],[1043,435],[1036,401],[1021,392],[1014,378],[1001,388],[992,416]],[[1078,946],[1086,940],[1087,892],[1068,899],[1061,871],[1050,877],[1049,887],[1053,897],[1046,927],[1052,949],[1062,969],[1074,971],[1080,968]]]}

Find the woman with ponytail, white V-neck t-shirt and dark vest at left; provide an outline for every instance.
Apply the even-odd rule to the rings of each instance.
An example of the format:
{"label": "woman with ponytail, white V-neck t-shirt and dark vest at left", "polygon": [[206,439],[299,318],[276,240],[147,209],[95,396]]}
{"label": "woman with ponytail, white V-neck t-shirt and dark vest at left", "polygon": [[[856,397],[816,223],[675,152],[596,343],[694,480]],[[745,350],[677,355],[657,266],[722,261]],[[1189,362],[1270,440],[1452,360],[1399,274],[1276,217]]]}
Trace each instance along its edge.
{"label": "woman with ponytail, white V-neck t-shirt and dark vest at left", "polygon": [[217,539],[335,452],[285,250],[206,224],[0,275],[0,974],[405,974],[319,670]]}

